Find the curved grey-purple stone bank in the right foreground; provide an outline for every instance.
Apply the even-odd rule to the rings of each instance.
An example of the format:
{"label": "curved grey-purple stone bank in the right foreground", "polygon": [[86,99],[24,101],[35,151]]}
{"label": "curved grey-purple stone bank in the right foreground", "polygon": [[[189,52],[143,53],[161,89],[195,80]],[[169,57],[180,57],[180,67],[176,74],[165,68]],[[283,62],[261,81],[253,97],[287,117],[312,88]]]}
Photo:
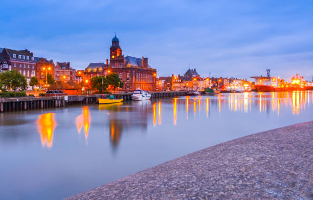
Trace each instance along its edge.
{"label": "curved grey-purple stone bank in the right foreground", "polygon": [[313,121],[221,143],[72,199],[310,199]]}

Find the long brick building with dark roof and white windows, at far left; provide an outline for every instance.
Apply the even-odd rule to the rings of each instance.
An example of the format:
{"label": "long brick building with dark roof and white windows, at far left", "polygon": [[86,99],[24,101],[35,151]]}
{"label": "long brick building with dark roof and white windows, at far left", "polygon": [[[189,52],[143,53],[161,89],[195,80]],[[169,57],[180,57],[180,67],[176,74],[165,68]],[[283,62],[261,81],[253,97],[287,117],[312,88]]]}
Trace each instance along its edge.
{"label": "long brick building with dark roof and white windows, at far left", "polygon": [[27,84],[29,84],[31,77],[36,76],[36,61],[33,53],[27,49],[17,51],[1,48],[1,50],[1,71],[17,70],[26,77]]}

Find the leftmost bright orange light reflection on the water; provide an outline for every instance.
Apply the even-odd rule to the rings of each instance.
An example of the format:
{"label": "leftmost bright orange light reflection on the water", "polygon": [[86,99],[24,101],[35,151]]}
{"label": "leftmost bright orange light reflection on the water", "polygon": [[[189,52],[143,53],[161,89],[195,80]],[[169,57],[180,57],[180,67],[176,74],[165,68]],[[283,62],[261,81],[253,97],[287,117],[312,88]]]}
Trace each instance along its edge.
{"label": "leftmost bright orange light reflection on the water", "polygon": [[40,134],[41,145],[52,147],[53,131],[56,127],[54,113],[46,113],[39,115],[37,120],[37,129]]}

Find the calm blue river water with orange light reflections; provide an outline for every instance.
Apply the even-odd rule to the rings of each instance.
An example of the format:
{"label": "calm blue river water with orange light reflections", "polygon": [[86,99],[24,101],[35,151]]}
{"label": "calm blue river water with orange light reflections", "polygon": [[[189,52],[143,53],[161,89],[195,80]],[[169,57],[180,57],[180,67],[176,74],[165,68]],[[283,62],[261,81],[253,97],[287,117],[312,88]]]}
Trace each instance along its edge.
{"label": "calm blue river water with orange light reflections", "polygon": [[62,199],[221,142],[313,120],[313,92],[0,114],[1,199]]}

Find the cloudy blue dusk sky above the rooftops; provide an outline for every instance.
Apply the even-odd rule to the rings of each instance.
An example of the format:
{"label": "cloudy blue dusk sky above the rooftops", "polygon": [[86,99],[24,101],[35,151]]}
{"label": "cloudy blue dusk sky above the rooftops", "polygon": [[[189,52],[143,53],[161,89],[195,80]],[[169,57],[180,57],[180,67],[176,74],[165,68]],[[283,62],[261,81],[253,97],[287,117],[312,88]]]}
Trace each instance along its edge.
{"label": "cloudy blue dusk sky above the rooftops", "polygon": [[311,1],[2,0],[0,47],[85,69],[104,62],[115,32],[124,56],[148,57],[158,76],[285,80],[313,76]]}

